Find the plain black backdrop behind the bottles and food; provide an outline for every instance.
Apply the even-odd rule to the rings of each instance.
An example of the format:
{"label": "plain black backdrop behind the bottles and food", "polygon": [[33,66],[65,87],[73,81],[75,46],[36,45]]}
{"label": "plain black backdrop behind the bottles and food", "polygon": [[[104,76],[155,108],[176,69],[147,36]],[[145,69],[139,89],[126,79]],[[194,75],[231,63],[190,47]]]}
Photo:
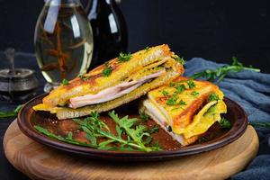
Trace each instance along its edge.
{"label": "plain black backdrop behind the bottles and food", "polygon": [[[42,0],[0,0],[0,50],[33,52],[42,6]],[[229,63],[237,56],[270,73],[268,0],[122,0],[120,6],[128,24],[129,51],[168,43],[185,59]]]}

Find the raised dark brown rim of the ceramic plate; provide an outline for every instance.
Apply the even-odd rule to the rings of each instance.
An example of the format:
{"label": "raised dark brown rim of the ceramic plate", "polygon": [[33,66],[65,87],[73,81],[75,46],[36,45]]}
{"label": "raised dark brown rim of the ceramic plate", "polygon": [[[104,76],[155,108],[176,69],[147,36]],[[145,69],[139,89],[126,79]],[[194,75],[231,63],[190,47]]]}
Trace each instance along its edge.
{"label": "raised dark brown rim of the ceramic plate", "polygon": [[[183,157],[187,155],[193,155],[202,153],[205,151],[210,151],[216,148],[224,147],[229,143],[235,141],[240,136],[244,134],[247,129],[247,113],[245,110],[235,101],[229,99],[228,97],[224,97],[225,102],[229,102],[234,104],[240,112],[242,112],[243,120],[242,124],[239,124],[239,127],[233,126],[228,132],[223,134],[222,136],[215,139],[214,142],[210,143],[207,141],[205,145],[198,144],[193,146],[187,146],[184,148],[180,148],[177,150],[160,150],[160,151],[153,151],[153,152],[138,152],[138,151],[117,151],[117,150],[102,150],[97,148],[89,148],[89,147],[82,147],[76,146],[73,144],[68,144],[66,142],[59,141],[57,139],[50,139],[44,134],[41,134],[37,130],[34,130],[33,126],[31,125],[30,121],[25,120],[23,117],[23,113],[28,112],[27,107],[37,101],[38,99],[44,97],[46,94],[40,94],[34,98],[32,98],[27,103],[24,103],[22,109],[18,113],[17,116],[17,123],[20,130],[26,135],[28,138],[42,144],[45,146],[49,146],[50,148],[56,148],[62,151],[66,151],[68,153],[74,153],[76,155],[81,155],[84,157],[91,157],[97,159],[105,159],[105,160],[121,160],[121,161],[148,161],[148,160],[158,160],[158,159],[169,159],[172,157]],[[29,126],[31,128],[29,128]],[[238,128],[238,129],[236,129]],[[235,130],[233,134],[229,134],[230,131]],[[229,135],[228,135],[229,134]],[[203,146],[202,146],[203,145]],[[192,148],[191,148],[192,147]],[[98,156],[98,157],[97,157]]]}

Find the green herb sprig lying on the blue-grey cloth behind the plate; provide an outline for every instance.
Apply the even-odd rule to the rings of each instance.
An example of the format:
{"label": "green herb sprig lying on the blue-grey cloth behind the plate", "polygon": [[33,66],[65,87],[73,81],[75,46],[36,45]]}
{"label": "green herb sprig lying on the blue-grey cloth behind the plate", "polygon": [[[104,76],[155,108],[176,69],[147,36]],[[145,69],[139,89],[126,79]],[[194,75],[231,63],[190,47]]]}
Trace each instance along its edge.
{"label": "green herb sprig lying on the blue-grey cloth behind the plate", "polygon": [[232,57],[231,65],[224,65],[216,69],[205,69],[202,72],[194,73],[192,78],[196,79],[202,76],[202,77],[205,77],[209,81],[214,81],[218,79],[217,82],[220,82],[229,73],[238,73],[244,69],[260,72],[260,69],[258,68],[244,67],[244,65],[238,61],[238,58]]}

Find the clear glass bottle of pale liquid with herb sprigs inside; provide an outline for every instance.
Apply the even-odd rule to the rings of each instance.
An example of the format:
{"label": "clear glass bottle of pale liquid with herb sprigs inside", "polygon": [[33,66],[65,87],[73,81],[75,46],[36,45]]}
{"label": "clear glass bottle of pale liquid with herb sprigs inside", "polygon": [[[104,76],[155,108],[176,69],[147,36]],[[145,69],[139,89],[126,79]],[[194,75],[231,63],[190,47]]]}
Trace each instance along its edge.
{"label": "clear glass bottle of pale liquid with herb sprigs inside", "polygon": [[84,74],[93,55],[93,32],[79,0],[47,0],[35,29],[34,46],[49,92],[63,79]]}

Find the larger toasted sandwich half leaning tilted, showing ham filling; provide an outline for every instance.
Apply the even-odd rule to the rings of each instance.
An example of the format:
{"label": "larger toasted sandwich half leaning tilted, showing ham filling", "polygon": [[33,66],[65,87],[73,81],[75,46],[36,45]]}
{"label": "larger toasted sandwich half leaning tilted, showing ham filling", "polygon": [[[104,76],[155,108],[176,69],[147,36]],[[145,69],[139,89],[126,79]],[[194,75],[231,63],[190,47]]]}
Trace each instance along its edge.
{"label": "larger toasted sandwich half leaning tilted, showing ham filling", "polygon": [[139,98],[184,73],[181,59],[159,45],[134,54],[120,54],[66,85],[60,85],[33,107],[56,113],[58,119],[105,112]]}

